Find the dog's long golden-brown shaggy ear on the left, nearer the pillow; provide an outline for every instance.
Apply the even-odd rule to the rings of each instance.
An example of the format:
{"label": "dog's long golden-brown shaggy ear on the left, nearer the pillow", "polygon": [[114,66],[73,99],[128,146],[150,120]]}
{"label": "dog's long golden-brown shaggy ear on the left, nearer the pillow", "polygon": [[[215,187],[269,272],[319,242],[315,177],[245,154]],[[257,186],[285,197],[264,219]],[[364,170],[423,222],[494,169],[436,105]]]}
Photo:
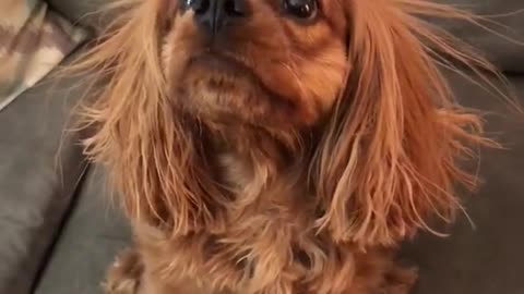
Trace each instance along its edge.
{"label": "dog's long golden-brown shaggy ear on the left, nearer the pillow", "polygon": [[94,131],[85,140],[86,152],[109,168],[118,203],[132,219],[186,234],[219,225],[215,216],[224,199],[221,191],[212,191],[213,180],[206,177],[205,162],[195,150],[199,144],[193,144],[165,93],[159,11],[166,2],[112,3],[121,16],[68,70],[90,70],[104,79],[81,119],[83,127]]}

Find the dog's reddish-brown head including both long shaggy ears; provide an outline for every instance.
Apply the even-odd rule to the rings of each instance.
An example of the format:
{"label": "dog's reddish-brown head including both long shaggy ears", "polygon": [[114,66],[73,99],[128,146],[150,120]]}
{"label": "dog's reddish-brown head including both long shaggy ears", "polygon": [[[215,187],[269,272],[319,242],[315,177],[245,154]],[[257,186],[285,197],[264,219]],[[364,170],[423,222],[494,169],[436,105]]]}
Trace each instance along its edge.
{"label": "dog's reddish-brown head including both long shaggy ears", "polygon": [[421,0],[121,4],[80,66],[109,79],[84,115],[97,124],[87,151],[109,166],[133,218],[176,233],[219,223],[231,199],[210,137],[251,139],[257,160],[291,134],[300,144],[283,146],[308,150],[286,155],[299,161],[286,173],[311,183],[317,229],[335,240],[391,244],[431,213],[452,217],[454,182],[472,181],[456,161],[485,140],[438,64],[490,68],[417,16],[468,14]]}

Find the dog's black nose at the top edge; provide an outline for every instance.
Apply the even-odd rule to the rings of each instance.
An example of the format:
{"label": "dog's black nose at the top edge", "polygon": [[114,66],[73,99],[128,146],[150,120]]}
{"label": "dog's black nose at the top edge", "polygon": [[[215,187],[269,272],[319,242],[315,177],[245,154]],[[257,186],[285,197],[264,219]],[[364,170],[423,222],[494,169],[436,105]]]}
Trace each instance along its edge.
{"label": "dog's black nose at the top edge", "polygon": [[248,0],[184,0],[206,34],[216,35],[248,16]]}

